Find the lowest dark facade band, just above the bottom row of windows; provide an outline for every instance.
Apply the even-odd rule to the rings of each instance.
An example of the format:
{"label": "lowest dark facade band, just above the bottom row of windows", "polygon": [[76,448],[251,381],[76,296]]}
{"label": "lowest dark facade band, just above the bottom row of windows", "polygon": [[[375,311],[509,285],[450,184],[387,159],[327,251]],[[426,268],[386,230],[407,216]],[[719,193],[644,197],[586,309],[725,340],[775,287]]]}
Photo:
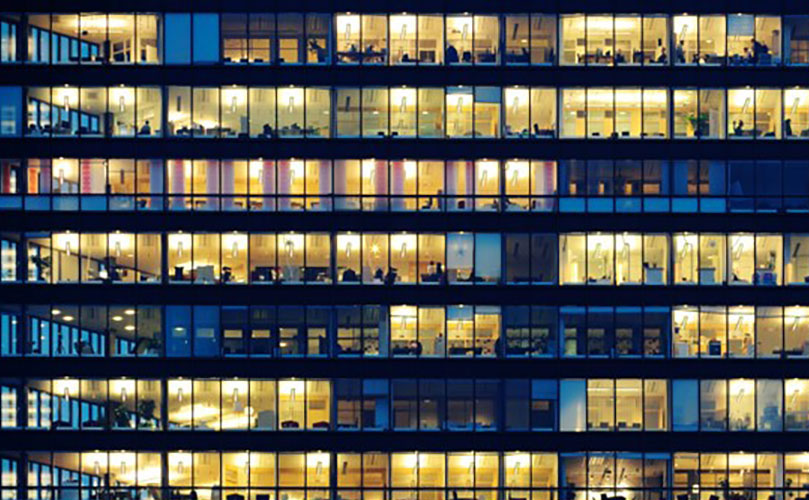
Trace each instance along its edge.
{"label": "lowest dark facade band, just above the bottom row of windows", "polygon": [[267,451],[804,451],[806,442],[790,432],[705,433],[274,433],[251,432],[3,432],[3,449],[12,450],[267,450]]}

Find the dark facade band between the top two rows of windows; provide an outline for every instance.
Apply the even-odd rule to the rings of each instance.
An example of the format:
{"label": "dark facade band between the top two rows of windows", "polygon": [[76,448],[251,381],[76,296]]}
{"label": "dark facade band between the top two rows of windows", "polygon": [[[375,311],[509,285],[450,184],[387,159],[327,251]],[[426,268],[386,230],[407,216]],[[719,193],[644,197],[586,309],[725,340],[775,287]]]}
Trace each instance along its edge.
{"label": "dark facade band between the top two rows of windows", "polygon": [[[69,69],[69,71],[65,71]],[[493,71],[493,69],[496,69]],[[2,85],[609,85],[772,86],[809,84],[805,67],[571,67],[571,66],[37,66],[4,65]]]}

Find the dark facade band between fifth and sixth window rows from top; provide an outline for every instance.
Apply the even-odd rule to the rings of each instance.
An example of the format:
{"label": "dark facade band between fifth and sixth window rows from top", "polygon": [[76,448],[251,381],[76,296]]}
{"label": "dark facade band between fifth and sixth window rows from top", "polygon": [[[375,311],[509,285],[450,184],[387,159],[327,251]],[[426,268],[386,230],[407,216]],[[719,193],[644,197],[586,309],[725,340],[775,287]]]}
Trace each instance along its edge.
{"label": "dark facade band between fifth and sixth window rows from top", "polygon": [[[414,371],[414,368],[417,370]],[[3,358],[0,377],[783,377],[806,376],[805,359],[494,358]]]}

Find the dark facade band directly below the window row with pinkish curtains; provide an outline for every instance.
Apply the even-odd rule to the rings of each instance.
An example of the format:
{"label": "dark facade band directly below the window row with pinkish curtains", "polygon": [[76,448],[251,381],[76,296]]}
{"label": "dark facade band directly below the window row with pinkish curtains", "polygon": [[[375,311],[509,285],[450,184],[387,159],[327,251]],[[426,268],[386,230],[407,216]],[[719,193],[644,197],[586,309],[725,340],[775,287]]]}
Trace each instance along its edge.
{"label": "dark facade band directly below the window row with pinkish curtains", "polygon": [[32,212],[10,215],[4,231],[754,231],[801,232],[805,213],[492,212]]}

